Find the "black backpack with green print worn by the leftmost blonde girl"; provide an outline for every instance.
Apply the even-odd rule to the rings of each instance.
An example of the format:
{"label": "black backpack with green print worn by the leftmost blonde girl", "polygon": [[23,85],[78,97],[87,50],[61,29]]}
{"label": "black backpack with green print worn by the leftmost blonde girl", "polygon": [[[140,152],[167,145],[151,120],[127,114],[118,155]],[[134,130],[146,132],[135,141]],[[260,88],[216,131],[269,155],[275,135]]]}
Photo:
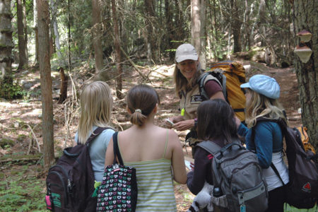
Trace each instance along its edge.
{"label": "black backpack with green print worn by the leftmost blonde girl", "polygon": [[102,131],[98,127],[85,144],[65,148],[57,165],[49,168],[47,174],[47,209],[51,211],[95,211],[95,177],[90,162],[90,143]]}

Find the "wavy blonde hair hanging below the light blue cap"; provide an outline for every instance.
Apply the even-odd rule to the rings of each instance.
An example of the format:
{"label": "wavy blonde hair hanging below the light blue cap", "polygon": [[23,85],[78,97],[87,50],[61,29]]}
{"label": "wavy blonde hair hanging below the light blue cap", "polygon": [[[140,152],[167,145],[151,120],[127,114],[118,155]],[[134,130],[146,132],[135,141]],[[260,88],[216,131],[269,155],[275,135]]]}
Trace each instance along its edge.
{"label": "wavy blonde hair hanging below the light blue cap", "polygon": [[278,100],[267,98],[249,88],[247,92],[251,93],[251,99],[247,101],[245,120],[249,128],[255,126],[258,117],[266,117],[268,119],[281,118],[287,123],[283,107]]}

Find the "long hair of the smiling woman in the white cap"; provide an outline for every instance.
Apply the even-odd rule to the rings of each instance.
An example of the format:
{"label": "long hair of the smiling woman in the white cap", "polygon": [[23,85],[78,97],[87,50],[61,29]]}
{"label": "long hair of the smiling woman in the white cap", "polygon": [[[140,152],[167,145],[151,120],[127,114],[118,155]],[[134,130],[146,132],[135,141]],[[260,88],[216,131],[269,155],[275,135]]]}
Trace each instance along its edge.
{"label": "long hair of the smiling woman in the white cap", "polygon": [[196,74],[191,79],[191,81],[187,81],[187,78],[185,78],[180,69],[177,66],[177,62],[175,62],[175,71],[173,72],[173,81],[175,82],[175,93],[176,95],[181,98],[181,90],[191,90],[196,86],[197,80],[199,79],[199,76],[201,75],[201,64],[198,61],[198,66],[196,67]]}

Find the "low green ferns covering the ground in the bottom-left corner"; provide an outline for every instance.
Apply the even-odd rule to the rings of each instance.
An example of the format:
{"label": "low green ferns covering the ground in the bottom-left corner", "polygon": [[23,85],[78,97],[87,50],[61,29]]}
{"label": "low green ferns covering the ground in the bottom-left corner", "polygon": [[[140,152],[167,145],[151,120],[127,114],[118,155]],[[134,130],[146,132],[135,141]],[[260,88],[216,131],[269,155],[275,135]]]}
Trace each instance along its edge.
{"label": "low green ferns covering the ground in the bottom-left corner", "polygon": [[[0,181],[1,211],[46,211],[43,188],[45,182],[35,177],[23,177],[25,170],[16,172],[18,179]],[[12,175],[12,173],[11,173]],[[2,178],[3,176],[1,176]],[[14,177],[14,178],[16,178]]]}

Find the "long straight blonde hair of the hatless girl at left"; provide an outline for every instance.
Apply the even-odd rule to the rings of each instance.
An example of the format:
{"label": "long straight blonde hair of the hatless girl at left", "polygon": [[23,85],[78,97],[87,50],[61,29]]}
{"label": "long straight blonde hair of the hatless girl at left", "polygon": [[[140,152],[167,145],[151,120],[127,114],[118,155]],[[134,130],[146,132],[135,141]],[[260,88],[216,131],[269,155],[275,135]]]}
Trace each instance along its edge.
{"label": "long straight blonde hair of the hatless girl at left", "polygon": [[81,118],[78,124],[78,143],[85,143],[93,126],[110,126],[112,94],[107,83],[95,81],[81,93]]}

